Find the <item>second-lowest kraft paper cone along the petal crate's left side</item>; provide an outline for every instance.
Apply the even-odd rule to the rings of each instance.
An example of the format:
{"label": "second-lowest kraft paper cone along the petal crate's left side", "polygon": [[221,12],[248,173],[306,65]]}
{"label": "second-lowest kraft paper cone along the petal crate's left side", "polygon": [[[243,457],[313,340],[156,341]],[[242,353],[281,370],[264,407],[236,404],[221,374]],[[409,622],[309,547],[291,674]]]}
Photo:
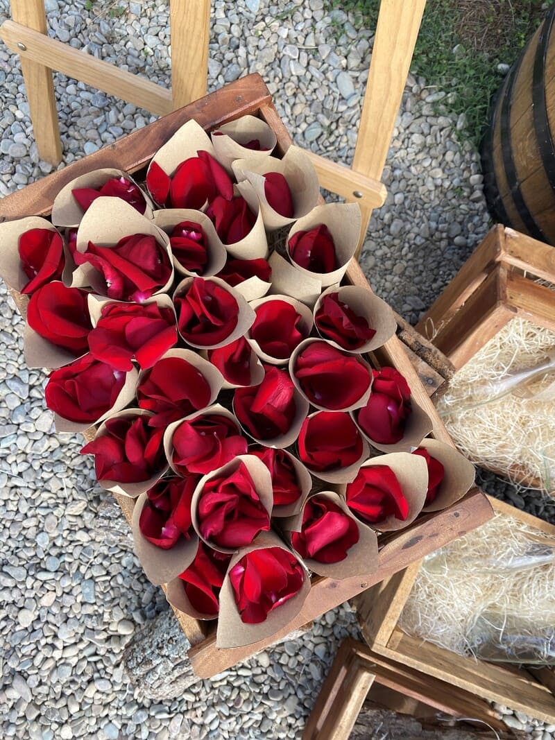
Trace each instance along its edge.
{"label": "second-lowest kraft paper cone along the petal crate's left side", "polygon": [[178,542],[169,550],[163,550],[156,547],[156,545],[152,545],[152,542],[149,542],[142,534],[139,527],[139,519],[147,501],[147,494],[141,494],[133,508],[131,520],[133,546],[145,575],[153,585],[159,586],[177,578],[179,573],[183,573],[186,568],[189,568],[197,554],[198,536],[196,532],[192,532],[189,539],[181,536]]}

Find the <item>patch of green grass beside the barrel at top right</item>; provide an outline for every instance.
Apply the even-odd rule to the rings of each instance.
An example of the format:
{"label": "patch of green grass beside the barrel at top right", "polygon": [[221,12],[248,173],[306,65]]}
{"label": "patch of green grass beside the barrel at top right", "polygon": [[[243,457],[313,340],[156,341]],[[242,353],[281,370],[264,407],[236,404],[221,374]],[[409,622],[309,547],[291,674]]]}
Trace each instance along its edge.
{"label": "patch of green grass beside the barrel at top right", "polygon": [[[406,0],[407,2],[410,0]],[[448,95],[442,105],[464,112],[463,135],[477,145],[488,120],[491,95],[502,83],[497,64],[513,64],[545,16],[543,0],[428,0],[411,72]],[[355,24],[374,29],[380,0],[329,0],[350,10]],[[453,50],[458,45],[457,53]]]}

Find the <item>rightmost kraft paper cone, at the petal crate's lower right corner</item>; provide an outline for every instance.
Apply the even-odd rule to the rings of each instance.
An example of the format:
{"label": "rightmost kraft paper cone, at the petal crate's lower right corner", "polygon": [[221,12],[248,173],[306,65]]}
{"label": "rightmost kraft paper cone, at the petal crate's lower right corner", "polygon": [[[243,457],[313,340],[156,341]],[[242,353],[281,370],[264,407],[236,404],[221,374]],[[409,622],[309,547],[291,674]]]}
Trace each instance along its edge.
{"label": "rightmost kraft paper cone, at the petal crate's lower right corner", "polygon": [[[451,445],[426,438],[418,447],[428,450],[431,457],[443,465],[443,480],[434,501],[422,511],[440,511],[461,499],[474,483],[474,465]],[[417,457],[414,455],[413,457]]]}

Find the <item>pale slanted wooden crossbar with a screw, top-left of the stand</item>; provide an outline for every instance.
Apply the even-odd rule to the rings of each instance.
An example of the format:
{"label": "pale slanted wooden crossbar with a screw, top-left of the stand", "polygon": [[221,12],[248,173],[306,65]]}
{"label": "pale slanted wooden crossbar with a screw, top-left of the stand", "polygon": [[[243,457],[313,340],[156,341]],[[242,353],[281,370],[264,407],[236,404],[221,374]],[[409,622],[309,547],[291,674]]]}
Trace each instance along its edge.
{"label": "pale slanted wooden crossbar with a screw, top-left of the stand", "polygon": [[[166,115],[172,110],[172,93],[161,85],[120,70],[55,38],[43,36],[23,24],[5,21],[0,36],[8,49],[21,54],[21,61],[48,67],[50,77],[50,70],[56,70],[156,115]],[[18,43],[25,44],[27,49],[21,51]]]}

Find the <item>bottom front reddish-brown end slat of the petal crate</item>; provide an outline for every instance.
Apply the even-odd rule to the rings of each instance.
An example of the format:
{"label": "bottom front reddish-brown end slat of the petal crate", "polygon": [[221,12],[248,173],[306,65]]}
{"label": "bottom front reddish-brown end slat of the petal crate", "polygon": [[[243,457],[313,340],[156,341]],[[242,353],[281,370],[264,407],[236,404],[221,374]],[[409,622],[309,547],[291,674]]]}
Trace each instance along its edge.
{"label": "bottom front reddish-brown end slat of the petal crate", "polygon": [[200,678],[209,678],[232,665],[245,660],[258,650],[271,645],[305,622],[316,619],[320,614],[343,604],[347,599],[369,588],[383,578],[407,568],[425,554],[443,547],[447,542],[471,531],[491,518],[491,505],[485,496],[473,488],[464,499],[445,511],[420,519],[417,525],[396,533],[379,555],[379,569],[364,579],[347,578],[337,581],[331,578],[318,579],[312,585],[300,614],[289,622],[271,639],[260,640],[252,645],[218,650],[215,635],[209,636],[200,645],[189,650],[193,670]]}

